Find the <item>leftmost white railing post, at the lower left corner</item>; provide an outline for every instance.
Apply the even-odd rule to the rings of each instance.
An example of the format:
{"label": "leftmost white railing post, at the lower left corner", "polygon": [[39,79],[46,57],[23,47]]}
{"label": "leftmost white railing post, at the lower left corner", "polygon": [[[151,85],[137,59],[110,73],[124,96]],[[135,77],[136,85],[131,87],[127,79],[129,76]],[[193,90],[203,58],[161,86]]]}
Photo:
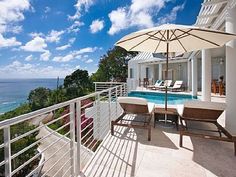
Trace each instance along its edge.
{"label": "leftmost white railing post, at the lower left corner", "polygon": [[5,155],[5,176],[11,177],[11,129],[10,126],[4,128],[4,155]]}

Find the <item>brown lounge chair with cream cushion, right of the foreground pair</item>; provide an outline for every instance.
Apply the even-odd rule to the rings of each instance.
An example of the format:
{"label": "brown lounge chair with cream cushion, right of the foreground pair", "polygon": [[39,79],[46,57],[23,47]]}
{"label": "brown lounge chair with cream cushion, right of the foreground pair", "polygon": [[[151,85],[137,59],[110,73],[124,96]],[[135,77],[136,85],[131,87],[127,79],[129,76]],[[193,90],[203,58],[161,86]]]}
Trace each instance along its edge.
{"label": "brown lounge chair with cream cushion, right of the foreground pair", "polygon": [[[236,156],[236,137],[232,136],[224,127],[222,127],[217,122],[217,119],[224,112],[225,108],[226,105],[224,103],[214,103],[206,101],[189,101],[186,102],[183,106],[178,106],[177,110],[181,124],[179,140],[180,147],[183,146],[184,135],[233,142],[234,154]],[[215,125],[216,129],[200,129],[199,127],[193,128],[189,126],[191,122],[193,123],[193,121],[195,123],[199,122],[204,124],[213,124]]]}

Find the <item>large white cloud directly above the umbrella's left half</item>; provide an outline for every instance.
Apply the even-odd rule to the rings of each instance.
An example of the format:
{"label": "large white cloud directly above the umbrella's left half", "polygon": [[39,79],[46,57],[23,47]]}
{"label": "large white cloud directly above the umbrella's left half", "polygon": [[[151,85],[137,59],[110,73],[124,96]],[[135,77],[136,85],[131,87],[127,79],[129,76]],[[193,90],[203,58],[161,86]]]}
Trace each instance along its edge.
{"label": "large white cloud directly above the umbrella's left half", "polygon": [[[159,11],[165,7],[165,4],[171,0],[132,0],[130,6],[119,7],[109,13],[109,18],[112,23],[108,34],[114,35],[121,30],[138,27],[149,28],[156,24],[153,18],[157,16]],[[174,11],[163,19],[163,21],[173,22],[176,19],[176,14],[182,8],[174,8]],[[161,19],[160,19],[161,20]]]}

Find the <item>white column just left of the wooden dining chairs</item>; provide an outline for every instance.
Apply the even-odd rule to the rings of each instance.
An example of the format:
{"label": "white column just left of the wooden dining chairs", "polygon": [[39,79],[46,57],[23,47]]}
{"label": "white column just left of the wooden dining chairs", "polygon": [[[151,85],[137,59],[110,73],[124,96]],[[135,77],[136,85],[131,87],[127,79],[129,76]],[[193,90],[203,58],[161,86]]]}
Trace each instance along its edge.
{"label": "white column just left of the wooden dining chairs", "polygon": [[202,50],[202,100],[211,101],[211,51]]}

